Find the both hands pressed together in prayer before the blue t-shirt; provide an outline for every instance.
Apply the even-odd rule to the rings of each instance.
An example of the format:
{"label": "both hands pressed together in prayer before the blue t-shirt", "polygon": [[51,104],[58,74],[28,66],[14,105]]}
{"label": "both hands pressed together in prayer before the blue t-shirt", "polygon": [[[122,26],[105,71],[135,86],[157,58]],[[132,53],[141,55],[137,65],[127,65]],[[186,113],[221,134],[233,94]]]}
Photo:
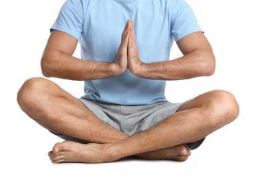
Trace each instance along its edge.
{"label": "both hands pressed together in prayer before the blue t-shirt", "polygon": [[139,57],[134,33],[134,23],[131,19],[127,21],[125,29],[122,31],[121,44],[114,64],[116,64],[117,73],[119,75],[124,73],[127,68],[129,68],[131,73],[136,75],[136,72],[140,71],[140,67],[143,64]]}

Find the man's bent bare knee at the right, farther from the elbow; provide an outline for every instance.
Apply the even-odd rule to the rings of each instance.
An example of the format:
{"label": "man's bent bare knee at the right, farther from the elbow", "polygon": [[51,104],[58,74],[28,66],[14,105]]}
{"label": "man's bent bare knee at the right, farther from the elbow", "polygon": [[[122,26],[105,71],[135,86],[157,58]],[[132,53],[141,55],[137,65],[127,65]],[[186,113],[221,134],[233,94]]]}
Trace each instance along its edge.
{"label": "man's bent bare knee at the right, farther from the elbow", "polygon": [[213,91],[213,102],[218,118],[224,118],[222,122],[231,123],[239,115],[239,105],[231,92],[225,90]]}

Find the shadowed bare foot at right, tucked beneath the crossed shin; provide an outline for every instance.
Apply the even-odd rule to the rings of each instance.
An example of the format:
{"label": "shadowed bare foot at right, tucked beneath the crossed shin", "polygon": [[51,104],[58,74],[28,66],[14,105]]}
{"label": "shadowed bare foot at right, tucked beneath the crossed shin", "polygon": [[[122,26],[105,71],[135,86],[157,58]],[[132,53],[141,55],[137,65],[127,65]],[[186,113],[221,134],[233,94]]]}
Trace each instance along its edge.
{"label": "shadowed bare foot at right, tucked beneath the crossed shin", "polygon": [[144,160],[176,160],[179,162],[184,162],[189,158],[190,155],[191,151],[186,149],[183,144],[180,144],[167,149],[142,153],[136,155],[136,157]]}

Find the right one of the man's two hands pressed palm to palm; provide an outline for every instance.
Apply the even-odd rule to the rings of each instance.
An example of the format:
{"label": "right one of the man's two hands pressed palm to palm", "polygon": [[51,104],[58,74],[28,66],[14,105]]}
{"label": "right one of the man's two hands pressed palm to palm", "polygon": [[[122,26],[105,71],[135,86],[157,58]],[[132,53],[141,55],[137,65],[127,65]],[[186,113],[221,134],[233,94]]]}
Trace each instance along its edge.
{"label": "right one of the man's two hands pressed palm to palm", "polygon": [[134,33],[134,23],[131,21],[131,32],[128,41],[128,68],[134,75],[139,75],[142,67],[142,61],[140,60],[138,47],[136,44],[136,37]]}

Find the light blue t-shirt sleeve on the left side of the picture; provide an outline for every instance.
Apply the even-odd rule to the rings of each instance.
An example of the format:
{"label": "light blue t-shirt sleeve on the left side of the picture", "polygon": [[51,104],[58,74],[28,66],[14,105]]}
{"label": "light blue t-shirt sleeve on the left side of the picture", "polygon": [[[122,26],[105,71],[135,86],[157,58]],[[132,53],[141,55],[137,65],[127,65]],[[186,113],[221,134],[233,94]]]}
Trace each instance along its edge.
{"label": "light blue t-shirt sleeve on the left side of the picture", "polygon": [[83,3],[81,0],[65,1],[50,32],[54,29],[70,34],[77,40],[81,38],[83,31]]}

